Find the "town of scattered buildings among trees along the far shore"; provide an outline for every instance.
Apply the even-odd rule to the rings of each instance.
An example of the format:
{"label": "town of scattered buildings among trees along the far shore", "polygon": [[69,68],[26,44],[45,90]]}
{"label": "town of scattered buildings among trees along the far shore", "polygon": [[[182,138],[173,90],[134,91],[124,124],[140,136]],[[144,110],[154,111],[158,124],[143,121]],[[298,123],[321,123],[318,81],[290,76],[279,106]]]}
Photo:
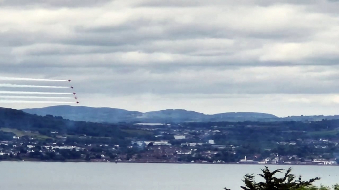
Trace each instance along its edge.
{"label": "town of scattered buildings among trees along the far shore", "polygon": [[338,124],[337,120],[134,123],[119,127],[126,134],[119,141],[0,128],[0,160],[337,165]]}

